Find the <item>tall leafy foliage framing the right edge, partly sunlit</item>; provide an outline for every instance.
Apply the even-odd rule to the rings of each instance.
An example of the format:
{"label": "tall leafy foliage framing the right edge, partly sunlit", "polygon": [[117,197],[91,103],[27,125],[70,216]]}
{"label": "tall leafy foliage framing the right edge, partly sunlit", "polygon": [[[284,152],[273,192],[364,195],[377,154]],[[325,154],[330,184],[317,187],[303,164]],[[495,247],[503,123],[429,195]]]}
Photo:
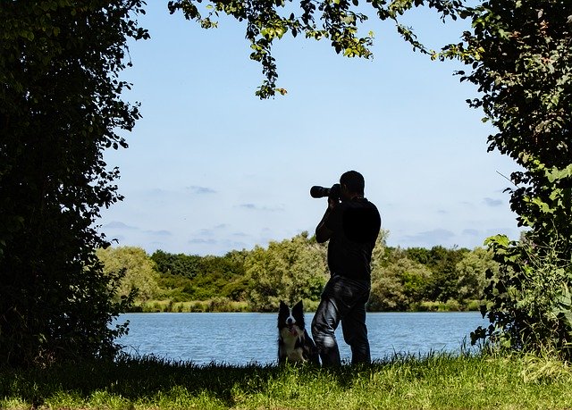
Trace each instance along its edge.
{"label": "tall leafy foliage framing the right edge, partly sunlit", "polygon": [[511,174],[510,205],[530,229],[523,241],[489,239],[501,271],[491,272],[486,288],[484,312],[494,325],[479,336],[501,332],[516,348],[564,347],[572,328],[568,320],[556,324],[551,310],[571,284],[572,3],[491,0],[475,8],[472,22],[442,57],[472,68],[459,72],[482,93],[469,103],[497,130],[489,150],[522,167]]}

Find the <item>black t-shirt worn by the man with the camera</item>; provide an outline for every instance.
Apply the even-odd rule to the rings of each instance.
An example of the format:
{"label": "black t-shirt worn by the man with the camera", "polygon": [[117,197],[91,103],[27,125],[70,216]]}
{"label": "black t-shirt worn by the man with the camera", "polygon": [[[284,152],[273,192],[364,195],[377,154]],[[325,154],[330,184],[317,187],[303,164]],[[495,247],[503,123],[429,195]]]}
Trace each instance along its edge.
{"label": "black t-shirt worn by the man with the camera", "polygon": [[332,275],[371,280],[371,259],[381,218],[366,198],[343,201],[325,222],[332,230],[328,245],[328,267]]}

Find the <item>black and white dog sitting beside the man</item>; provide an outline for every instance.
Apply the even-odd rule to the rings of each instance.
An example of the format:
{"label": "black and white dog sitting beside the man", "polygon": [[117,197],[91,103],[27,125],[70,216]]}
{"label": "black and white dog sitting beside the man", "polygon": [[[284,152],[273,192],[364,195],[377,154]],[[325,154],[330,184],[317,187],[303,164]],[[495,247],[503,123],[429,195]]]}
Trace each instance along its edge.
{"label": "black and white dog sitting beside the man", "polygon": [[314,340],[304,325],[304,305],[300,300],[290,309],[282,300],[278,312],[278,364],[301,362],[320,364]]}

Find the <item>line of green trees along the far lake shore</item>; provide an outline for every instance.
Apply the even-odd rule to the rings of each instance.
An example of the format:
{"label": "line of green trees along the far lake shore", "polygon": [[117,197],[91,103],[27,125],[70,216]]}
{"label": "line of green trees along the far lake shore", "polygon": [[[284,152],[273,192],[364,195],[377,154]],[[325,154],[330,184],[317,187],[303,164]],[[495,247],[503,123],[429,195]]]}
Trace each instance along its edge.
{"label": "line of green trees along the far lake shore", "polygon": [[[496,271],[481,247],[387,247],[383,231],[372,258],[370,311],[475,310],[485,272]],[[134,311],[272,312],[280,300],[315,309],[329,277],[327,247],[303,232],[268,247],[223,256],[147,255],[139,247],[98,249],[106,274],[121,273],[119,300],[137,289]]]}

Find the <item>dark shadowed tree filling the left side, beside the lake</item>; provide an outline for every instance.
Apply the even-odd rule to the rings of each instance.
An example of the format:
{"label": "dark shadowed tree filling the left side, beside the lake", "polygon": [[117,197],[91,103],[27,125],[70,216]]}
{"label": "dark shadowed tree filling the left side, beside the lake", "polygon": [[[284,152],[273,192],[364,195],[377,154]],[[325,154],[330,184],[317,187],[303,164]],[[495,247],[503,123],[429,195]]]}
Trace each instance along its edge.
{"label": "dark shadowed tree filling the left side, beside the lake", "polygon": [[121,199],[105,148],[139,118],[120,96],[141,0],[0,5],[0,364],[113,356],[125,308],[94,250]]}

